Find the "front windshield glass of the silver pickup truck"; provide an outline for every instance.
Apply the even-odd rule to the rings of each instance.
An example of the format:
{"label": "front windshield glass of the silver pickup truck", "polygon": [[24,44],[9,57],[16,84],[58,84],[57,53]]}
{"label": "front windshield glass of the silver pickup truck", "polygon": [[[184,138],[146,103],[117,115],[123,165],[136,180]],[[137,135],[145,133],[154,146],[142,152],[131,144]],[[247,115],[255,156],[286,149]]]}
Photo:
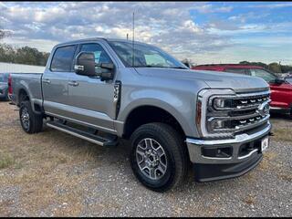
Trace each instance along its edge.
{"label": "front windshield glass of the silver pickup truck", "polygon": [[117,53],[126,67],[135,68],[185,68],[182,62],[163,52],[158,47],[146,44],[134,45],[131,42],[110,41],[110,47]]}

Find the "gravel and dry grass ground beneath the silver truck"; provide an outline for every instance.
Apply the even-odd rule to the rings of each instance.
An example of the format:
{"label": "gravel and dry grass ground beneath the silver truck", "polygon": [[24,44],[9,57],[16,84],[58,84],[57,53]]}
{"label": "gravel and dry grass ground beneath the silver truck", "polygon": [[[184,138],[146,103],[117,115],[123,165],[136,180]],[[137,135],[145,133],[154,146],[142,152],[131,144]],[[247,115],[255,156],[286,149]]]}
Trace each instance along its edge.
{"label": "gravel and dry grass ground beneath the silver truck", "polygon": [[272,119],[263,162],[232,180],[153,193],[136,181],[129,143],[105,149],[44,127],[28,135],[0,102],[0,216],[292,216],[292,120]]}

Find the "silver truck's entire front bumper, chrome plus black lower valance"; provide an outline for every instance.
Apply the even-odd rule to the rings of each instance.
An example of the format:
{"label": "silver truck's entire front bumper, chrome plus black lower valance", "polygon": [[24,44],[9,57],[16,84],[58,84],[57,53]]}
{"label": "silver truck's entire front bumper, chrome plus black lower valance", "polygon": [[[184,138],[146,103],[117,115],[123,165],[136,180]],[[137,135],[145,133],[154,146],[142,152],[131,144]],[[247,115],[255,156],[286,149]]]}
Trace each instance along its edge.
{"label": "silver truck's entire front bumper, chrome plus black lower valance", "polygon": [[[267,122],[266,127],[256,130],[254,133],[236,135],[230,140],[196,140],[187,138],[186,143],[193,162],[195,180],[197,182],[209,182],[233,178],[245,174],[253,169],[262,159],[260,142],[265,138],[272,126]],[[244,147],[251,149],[245,154]],[[227,157],[209,157],[203,155],[203,150],[230,148],[231,154]]]}

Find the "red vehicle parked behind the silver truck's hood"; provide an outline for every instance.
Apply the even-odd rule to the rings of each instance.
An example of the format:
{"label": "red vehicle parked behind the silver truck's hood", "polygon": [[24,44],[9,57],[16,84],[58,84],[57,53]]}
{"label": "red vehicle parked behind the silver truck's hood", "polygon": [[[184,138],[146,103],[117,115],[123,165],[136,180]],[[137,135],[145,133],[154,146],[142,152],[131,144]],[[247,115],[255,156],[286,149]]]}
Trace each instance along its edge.
{"label": "red vehicle parked behind the silver truck's hood", "polygon": [[195,66],[193,70],[225,71],[263,78],[270,85],[270,110],[289,113],[292,119],[292,84],[278,78],[266,68],[240,64],[214,64]]}

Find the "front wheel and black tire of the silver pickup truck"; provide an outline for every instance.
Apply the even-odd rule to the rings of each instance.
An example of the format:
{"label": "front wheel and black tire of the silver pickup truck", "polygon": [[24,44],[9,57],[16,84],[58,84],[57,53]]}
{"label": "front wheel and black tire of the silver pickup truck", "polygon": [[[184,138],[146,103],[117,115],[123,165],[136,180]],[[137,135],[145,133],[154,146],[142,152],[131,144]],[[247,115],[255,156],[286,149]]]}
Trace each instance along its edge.
{"label": "front wheel and black tire of the silver pickup truck", "polygon": [[188,155],[182,136],[171,126],[149,123],[134,131],[130,165],[138,180],[156,192],[165,192],[183,183]]}

